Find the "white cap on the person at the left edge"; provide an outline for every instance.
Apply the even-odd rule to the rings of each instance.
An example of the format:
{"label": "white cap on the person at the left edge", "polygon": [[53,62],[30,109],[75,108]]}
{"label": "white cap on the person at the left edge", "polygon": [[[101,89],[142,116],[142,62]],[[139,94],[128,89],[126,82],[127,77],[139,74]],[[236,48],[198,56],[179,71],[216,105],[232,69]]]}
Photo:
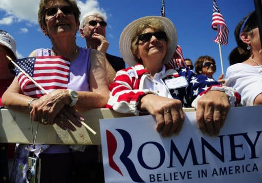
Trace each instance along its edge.
{"label": "white cap on the person at the left edge", "polygon": [[14,53],[14,56],[17,58],[15,50],[16,50],[16,42],[14,38],[6,31],[0,30],[0,44],[8,47]]}

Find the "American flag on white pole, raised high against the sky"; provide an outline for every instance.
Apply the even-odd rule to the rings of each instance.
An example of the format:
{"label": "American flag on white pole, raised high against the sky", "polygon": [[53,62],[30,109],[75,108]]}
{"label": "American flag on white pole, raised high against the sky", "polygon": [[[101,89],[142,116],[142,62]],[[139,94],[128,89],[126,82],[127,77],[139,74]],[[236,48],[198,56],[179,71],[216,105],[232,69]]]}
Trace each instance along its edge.
{"label": "American flag on white pole, raised high against the sky", "polygon": [[216,36],[213,41],[222,45],[226,45],[228,39],[228,28],[215,0],[213,0],[212,29],[219,31],[219,36]]}

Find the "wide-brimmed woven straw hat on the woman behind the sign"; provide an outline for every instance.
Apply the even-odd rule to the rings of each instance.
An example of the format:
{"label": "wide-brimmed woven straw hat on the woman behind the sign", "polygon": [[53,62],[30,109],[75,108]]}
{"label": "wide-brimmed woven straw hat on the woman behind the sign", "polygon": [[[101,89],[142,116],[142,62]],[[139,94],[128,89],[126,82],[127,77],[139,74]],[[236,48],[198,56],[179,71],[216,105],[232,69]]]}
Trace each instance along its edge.
{"label": "wide-brimmed woven straw hat on the woman behind the sign", "polygon": [[136,59],[134,58],[131,50],[131,39],[134,37],[134,34],[136,34],[136,30],[139,27],[139,25],[144,24],[147,22],[148,19],[155,18],[160,20],[164,27],[164,31],[167,35],[167,38],[169,40],[169,43],[167,45],[167,52],[166,56],[164,57],[163,63],[168,63],[168,61],[171,59],[171,57],[174,54],[174,51],[177,47],[177,30],[174,27],[174,24],[169,18],[163,17],[163,16],[145,16],[142,18],[139,18],[131,23],[129,23],[125,29],[123,30],[121,36],[120,36],[120,53],[122,55],[123,60],[128,66],[134,66],[137,64]]}

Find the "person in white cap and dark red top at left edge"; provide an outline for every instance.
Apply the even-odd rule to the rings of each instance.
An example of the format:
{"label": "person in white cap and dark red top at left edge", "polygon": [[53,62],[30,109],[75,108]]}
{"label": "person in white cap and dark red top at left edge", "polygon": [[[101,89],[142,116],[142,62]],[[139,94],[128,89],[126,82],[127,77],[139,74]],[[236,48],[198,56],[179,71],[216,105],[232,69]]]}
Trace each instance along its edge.
{"label": "person in white cap and dark red top at left edge", "polygon": [[[2,107],[2,95],[12,83],[14,74],[10,72],[11,64],[6,56],[17,59],[16,43],[14,38],[6,31],[0,30],[0,108]],[[12,156],[14,144],[0,144],[0,182],[8,182],[8,148]],[[12,149],[12,150],[11,150]]]}

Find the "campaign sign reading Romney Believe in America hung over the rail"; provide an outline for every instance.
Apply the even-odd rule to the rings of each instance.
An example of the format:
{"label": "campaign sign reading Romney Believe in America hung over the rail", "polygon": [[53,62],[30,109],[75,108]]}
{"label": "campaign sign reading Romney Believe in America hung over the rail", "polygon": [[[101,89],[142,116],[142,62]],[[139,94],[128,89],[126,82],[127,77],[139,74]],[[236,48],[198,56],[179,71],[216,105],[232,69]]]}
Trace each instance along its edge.
{"label": "campaign sign reading Romney Believe in America hung over the rail", "polygon": [[[262,131],[261,115],[259,115],[261,111],[262,106],[231,108],[219,134],[221,137],[210,137],[202,134],[197,126],[195,112],[185,113],[185,122],[180,134],[173,135],[170,138],[161,137],[155,129],[155,119],[150,115],[102,119],[100,120],[100,130],[105,182],[135,182],[130,178],[125,164],[119,158],[125,143],[116,129],[123,129],[130,134],[132,150],[128,158],[133,162],[137,173],[144,182],[262,182],[262,133],[259,134],[259,131]],[[108,164],[106,130],[109,130],[117,141],[113,160],[122,175]],[[238,135],[234,136],[233,134]],[[245,140],[244,135],[241,134],[246,134],[253,144],[258,137],[255,145],[256,159],[250,159],[250,145]],[[220,154],[222,154],[224,148],[224,162],[205,147],[204,153],[207,164],[203,165],[202,138]],[[235,153],[230,148],[230,138],[231,147],[232,142],[234,143],[233,151]],[[221,148],[221,139],[223,139],[223,148]],[[177,155],[172,152],[172,167],[168,168],[170,166],[171,141],[176,145],[184,159],[190,140],[193,142],[199,165],[193,165],[192,153],[189,150],[183,166]],[[161,144],[164,148],[165,159],[159,168],[148,170],[141,166],[141,161],[138,160],[138,149],[142,144],[152,141]],[[130,144],[128,145],[130,146]],[[239,159],[238,161],[231,161],[231,152]],[[153,144],[144,145],[142,157],[148,167],[157,167],[160,164],[160,150]],[[244,160],[240,160],[241,158]],[[128,166],[128,164],[126,165]]]}

